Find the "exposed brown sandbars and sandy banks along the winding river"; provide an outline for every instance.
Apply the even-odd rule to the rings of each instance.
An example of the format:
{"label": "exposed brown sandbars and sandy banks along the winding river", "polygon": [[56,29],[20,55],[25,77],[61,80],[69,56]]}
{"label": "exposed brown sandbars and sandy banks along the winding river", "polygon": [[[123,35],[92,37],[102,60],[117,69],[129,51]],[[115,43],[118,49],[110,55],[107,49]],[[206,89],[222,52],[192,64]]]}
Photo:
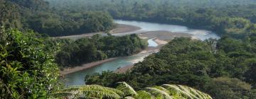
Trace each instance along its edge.
{"label": "exposed brown sandbars and sandy banks along the winding river", "polygon": [[[127,33],[127,32],[132,32],[132,31],[136,31],[136,30],[140,29],[140,28],[138,28],[136,26],[133,26],[133,25],[122,25],[122,24],[118,24],[118,25],[119,26],[117,26],[117,28],[110,31],[110,32],[112,32],[112,34],[114,34],[114,32],[116,32],[116,33]],[[87,34],[82,34],[82,35],[70,35],[70,36],[64,36],[64,37],[58,37],[58,38],[78,39],[78,38],[81,38],[81,37],[90,37],[90,36],[95,35],[95,34],[97,34],[97,33],[87,33]],[[161,47],[166,45],[170,40],[174,39],[174,37],[191,37],[192,36],[192,35],[189,35],[187,33],[171,33],[169,31],[162,31],[162,30],[142,32],[142,33],[138,33],[138,35],[142,39],[146,39],[146,40],[153,38],[154,42],[156,42],[157,45],[158,45],[157,47],[146,47],[146,49],[142,50],[138,54],[149,53],[149,52],[158,52]],[[104,64],[105,62],[111,62],[111,61],[113,61],[115,59],[118,59],[118,58],[119,57],[114,57],[114,58],[110,58],[110,59],[100,60],[100,61],[97,61],[97,62],[82,64],[80,66],[75,66],[74,68],[65,68],[63,71],[60,71],[60,73],[63,74],[63,75],[72,74],[72,73],[77,72],[77,71],[90,69],[94,66]],[[122,74],[122,73],[125,73],[126,71],[132,69],[132,67],[133,67],[133,65],[124,66],[120,69],[116,69],[114,72]]]}

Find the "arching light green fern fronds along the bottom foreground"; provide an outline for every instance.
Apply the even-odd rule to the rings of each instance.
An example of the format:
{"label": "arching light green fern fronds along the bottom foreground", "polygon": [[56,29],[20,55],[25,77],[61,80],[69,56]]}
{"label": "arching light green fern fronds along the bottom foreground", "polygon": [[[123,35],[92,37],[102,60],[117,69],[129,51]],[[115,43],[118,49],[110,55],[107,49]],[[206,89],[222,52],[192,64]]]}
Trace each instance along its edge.
{"label": "arching light green fern fronds along the bottom foreground", "polygon": [[144,88],[143,91],[134,89],[125,82],[119,82],[117,88],[107,88],[97,85],[73,86],[51,94],[53,98],[135,98],[135,99],[181,99],[197,98],[211,99],[210,95],[194,88],[181,85],[154,86]]}

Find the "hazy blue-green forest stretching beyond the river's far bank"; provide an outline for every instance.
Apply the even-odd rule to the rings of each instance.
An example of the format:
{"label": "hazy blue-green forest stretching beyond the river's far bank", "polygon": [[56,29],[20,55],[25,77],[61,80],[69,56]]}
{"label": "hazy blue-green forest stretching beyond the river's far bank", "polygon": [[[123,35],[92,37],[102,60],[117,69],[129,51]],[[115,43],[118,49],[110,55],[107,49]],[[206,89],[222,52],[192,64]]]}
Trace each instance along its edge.
{"label": "hazy blue-green forest stretching beyond the river's far bank", "polygon": [[219,35],[247,36],[256,23],[253,0],[47,0],[54,8],[72,11],[106,11],[114,18],[187,25]]}

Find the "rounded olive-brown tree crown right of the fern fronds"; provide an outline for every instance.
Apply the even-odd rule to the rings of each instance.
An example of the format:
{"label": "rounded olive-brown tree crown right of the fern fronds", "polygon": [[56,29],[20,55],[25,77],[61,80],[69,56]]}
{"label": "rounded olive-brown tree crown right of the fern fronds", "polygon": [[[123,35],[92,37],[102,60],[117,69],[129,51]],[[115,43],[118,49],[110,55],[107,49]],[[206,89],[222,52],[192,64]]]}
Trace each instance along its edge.
{"label": "rounded olive-brown tree crown right of the fern fronds", "polygon": [[207,84],[206,91],[216,99],[249,98],[251,86],[238,78],[219,77]]}

